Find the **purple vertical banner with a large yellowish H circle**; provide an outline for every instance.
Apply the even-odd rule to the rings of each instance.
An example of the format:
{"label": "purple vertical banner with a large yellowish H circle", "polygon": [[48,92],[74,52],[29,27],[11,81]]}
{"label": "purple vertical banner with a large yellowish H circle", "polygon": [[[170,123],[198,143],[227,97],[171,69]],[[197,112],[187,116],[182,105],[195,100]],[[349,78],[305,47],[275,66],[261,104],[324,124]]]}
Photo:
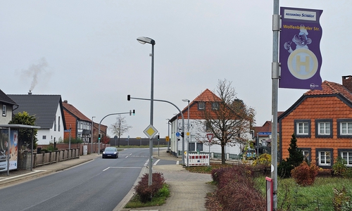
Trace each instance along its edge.
{"label": "purple vertical banner with a large yellowish H circle", "polygon": [[322,27],[319,23],[322,10],[281,7],[280,14],[279,88],[322,89]]}

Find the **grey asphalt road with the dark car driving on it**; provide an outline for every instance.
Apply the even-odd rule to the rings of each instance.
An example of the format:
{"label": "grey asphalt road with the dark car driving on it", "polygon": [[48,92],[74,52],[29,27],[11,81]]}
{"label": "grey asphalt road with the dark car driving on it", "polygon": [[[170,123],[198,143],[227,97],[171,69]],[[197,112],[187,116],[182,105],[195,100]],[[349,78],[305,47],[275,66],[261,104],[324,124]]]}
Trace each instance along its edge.
{"label": "grey asphalt road with the dark car driving on it", "polygon": [[1,189],[0,210],[113,210],[130,191],[148,159],[148,148],[131,148],[121,151],[118,159],[96,158]]}

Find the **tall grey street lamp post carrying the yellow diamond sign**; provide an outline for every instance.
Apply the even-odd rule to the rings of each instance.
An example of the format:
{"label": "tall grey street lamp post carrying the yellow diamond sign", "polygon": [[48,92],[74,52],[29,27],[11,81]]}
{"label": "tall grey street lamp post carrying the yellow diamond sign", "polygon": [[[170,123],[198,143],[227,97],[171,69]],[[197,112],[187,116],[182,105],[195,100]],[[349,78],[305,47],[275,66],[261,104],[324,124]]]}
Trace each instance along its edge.
{"label": "tall grey street lamp post carrying the yellow diamond sign", "polygon": [[[149,37],[138,37],[137,41],[141,44],[151,44],[151,53],[149,56],[151,56],[151,117],[150,117],[150,124],[153,126],[153,103],[154,103],[154,45],[155,41]],[[152,174],[153,170],[151,169],[153,167],[153,161],[152,161],[152,155],[153,155],[153,138],[149,139],[149,176],[148,176],[148,185],[151,186],[152,183]]]}

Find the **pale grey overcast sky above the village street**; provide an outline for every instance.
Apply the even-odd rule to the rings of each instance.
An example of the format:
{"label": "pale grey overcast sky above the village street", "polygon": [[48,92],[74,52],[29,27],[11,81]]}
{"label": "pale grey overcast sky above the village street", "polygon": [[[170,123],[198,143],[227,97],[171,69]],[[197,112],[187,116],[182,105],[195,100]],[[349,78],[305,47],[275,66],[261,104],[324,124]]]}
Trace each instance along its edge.
{"label": "pale grey overcast sky above the village street", "polygon": [[[280,6],[323,10],[322,80],[352,75],[352,1],[279,1]],[[271,120],[273,1],[0,1],[0,89],[6,94],[60,94],[94,122],[122,115],[130,132],[149,125],[151,45],[156,41],[154,98],[187,107],[205,89],[227,79],[237,97],[256,110],[256,124]],[[307,90],[279,89],[278,110]],[[168,135],[178,110],[155,102],[154,124]],[[117,116],[106,117],[111,126]],[[187,117],[185,117],[187,118]],[[111,135],[111,132],[108,134]]]}

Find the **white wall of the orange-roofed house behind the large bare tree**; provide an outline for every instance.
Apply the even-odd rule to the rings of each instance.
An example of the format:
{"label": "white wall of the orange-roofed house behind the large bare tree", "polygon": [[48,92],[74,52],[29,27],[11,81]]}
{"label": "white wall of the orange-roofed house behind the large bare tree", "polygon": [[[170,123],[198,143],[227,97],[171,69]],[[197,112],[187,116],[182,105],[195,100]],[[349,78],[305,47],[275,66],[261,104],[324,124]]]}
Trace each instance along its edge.
{"label": "white wall of the orange-roofed house behind the large bare tree", "polygon": [[[182,137],[176,136],[177,132],[181,134],[182,132],[182,120],[176,119],[171,122],[170,127],[170,150],[173,153],[177,153],[177,156],[180,157],[182,154]],[[221,146],[219,144],[213,144],[209,147],[208,144],[208,136],[206,135],[206,129],[203,128],[203,124],[199,122],[199,120],[189,120],[189,136],[187,136],[188,132],[188,120],[184,120],[184,151],[197,151],[203,153],[221,153]],[[248,139],[251,139],[251,135],[245,134]],[[180,141],[178,140],[180,139]],[[216,139],[213,139],[216,141]],[[191,146],[189,148],[189,146]],[[234,146],[225,146],[225,153],[237,154],[241,153],[241,150],[244,148],[244,145],[240,145],[239,143]]]}

